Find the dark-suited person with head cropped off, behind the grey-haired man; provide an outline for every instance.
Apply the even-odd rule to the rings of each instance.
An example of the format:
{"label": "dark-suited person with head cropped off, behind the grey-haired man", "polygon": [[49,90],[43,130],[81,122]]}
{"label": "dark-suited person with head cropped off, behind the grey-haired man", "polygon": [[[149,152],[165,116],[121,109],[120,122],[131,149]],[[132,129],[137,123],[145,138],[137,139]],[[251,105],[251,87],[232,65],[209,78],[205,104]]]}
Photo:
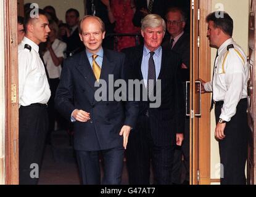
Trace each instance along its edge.
{"label": "dark-suited person with head cropped off, behind the grey-haired man", "polygon": [[141,20],[147,14],[158,14],[162,18],[167,8],[166,0],[134,0],[136,12],[133,17],[133,25],[141,26]]}

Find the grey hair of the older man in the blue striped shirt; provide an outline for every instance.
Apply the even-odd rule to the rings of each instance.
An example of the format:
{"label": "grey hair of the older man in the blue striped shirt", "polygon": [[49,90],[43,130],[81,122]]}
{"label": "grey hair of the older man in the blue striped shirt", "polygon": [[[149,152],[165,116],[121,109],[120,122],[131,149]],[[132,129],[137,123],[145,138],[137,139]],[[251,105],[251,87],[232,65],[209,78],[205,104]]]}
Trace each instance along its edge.
{"label": "grey hair of the older man in the blue striped shirt", "polygon": [[147,27],[155,28],[160,25],[163,26],[163,31],[165,31],[165,20],[157,14],[148,14],[141,20],[141,30],[145,30]]}

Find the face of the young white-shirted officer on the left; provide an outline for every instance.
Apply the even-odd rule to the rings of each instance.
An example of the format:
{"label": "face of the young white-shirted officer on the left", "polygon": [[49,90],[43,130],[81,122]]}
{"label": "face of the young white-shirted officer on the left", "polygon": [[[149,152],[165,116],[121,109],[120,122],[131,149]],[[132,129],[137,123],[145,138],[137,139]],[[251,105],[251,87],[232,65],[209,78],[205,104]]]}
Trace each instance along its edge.
{"label": "face of the young white-shirted officer on the left", "polygon": [[33,41],[36,44],[39,44],[40,42],[46,42],[51,31],[46,16],[41,14],[39,15],[39,18],[32,21],[28,28],[32,33]]}

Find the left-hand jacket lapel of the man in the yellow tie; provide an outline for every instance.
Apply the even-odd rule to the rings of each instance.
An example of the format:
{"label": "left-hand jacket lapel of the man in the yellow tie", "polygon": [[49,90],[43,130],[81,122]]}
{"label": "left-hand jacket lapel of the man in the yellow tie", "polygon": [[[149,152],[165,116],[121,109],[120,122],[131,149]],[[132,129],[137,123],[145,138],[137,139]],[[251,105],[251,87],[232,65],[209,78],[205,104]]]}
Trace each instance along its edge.
{"label": "left-hand jacket lapel of the man in the yellow tie", "polygon": [[81,52],[78,65],[75,66],[76,69],[82,74],[83,78],[85,78],[85,81],[88,82],[89,86],[91,86],[91,88],[94,90],[94,82],[96,81],[96,78],[94,76],[93,69],[91,68],[85,50]]}

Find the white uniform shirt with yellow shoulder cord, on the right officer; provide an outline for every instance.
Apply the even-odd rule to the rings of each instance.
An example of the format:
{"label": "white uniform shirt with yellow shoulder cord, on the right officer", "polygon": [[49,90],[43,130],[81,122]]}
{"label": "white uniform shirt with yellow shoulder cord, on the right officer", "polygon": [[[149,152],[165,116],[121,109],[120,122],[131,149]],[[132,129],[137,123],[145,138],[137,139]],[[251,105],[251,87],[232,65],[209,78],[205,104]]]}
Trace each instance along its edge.
{"label": "white uniform shirt with yellow shoulder cord, on the right officer", "polygon": [[[227,50],[229,44],[234,48]],[[239,100],[247,97],[249,68],[246,60],[242,48],[232,38],[226,40],[218,49],[213,80],[204,85],[208,92],[213,89],[214,101],[224,102],[219,118],[225,121],[236,114]]]}

